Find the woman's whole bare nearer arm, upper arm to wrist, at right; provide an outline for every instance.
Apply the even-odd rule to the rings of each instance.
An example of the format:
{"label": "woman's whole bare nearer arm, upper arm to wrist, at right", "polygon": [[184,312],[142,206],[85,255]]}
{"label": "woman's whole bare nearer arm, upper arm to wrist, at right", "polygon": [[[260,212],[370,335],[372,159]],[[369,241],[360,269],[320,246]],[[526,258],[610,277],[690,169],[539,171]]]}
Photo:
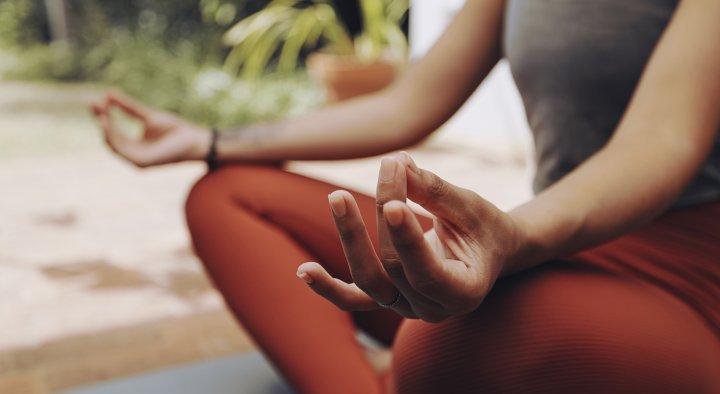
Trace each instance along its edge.
{"label": "woman's whole bare nearer arm, upper arm to wrist, at right", "polygon": [[610,142],[512,211],[526,229],[515,272],[624,234],[662,213],[707,160],[720,128],[720,3],[683,1]]}

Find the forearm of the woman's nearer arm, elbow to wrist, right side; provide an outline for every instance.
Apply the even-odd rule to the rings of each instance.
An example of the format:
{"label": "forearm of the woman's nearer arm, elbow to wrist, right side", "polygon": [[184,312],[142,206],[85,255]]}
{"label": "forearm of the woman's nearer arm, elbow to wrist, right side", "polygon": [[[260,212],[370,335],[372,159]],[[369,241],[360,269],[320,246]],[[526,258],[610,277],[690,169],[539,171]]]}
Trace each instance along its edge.
{"label": "forearm of the woman's nearer arm, elbow to wrist, right side", "polygon": [[708,152],[709,147],[682,141],[611,142],[510,212],[526,239],[506,273],[568,256],[648,222],[672,204]]}

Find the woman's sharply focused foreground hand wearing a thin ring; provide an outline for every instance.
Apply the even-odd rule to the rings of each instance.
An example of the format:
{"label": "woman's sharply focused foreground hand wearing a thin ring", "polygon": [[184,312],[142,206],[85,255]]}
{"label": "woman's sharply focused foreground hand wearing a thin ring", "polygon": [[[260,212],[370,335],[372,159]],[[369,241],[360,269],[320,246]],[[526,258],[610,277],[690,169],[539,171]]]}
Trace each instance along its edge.
{"label": "woman's sharply focused foreground hand wearing a thin ring", "polygon": [[[406,197],[435,215],[434,231],[423,234]],[[354,283],[332,278],[317,263],[302,264],[298,276],[343,310],[388,307],[429,322],[469,313],[524,244],[509,215],[418,168],[404,152],[384,158],[380,167],[380,256],[352,195],[336,191],[329,200]]]}

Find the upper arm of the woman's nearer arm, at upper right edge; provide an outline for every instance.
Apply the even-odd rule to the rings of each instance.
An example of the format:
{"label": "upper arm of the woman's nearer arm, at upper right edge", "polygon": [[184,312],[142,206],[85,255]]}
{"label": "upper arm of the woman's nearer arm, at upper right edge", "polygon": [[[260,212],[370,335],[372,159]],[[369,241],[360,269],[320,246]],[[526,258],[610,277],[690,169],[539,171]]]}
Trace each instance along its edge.
{"label": "upper arm of the woman's nearer arm, at upper right edge", "polygon": [[719,127],[720,1],[684,0],[655,48],[613,142],[655,141],[684,149],[694,173]]}

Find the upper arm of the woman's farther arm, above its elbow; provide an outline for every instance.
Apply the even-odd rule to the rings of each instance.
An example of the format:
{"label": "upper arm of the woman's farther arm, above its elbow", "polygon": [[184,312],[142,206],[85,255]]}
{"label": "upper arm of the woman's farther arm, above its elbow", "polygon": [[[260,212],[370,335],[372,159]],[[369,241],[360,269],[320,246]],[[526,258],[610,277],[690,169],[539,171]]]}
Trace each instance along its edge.
{"label": "upper arm of the woman's farther arm, above its elbow", "polygon": [[501,57],[504,0],[469,0],[430,51],[391,88],[424,137],[467,100]]}

